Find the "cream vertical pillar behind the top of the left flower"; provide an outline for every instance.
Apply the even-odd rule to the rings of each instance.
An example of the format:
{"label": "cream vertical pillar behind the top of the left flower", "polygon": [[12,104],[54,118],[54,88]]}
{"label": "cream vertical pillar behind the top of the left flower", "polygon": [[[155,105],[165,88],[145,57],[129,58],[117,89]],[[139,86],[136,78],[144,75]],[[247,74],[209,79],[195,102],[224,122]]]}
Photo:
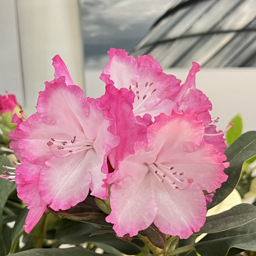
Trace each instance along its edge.
{"label": "cream vertical pillar behind the top of the left flower", "polygon": [[24,108],[36,109],[38,92],[53,80],[52,58],[59,54],[72,80],[84,89],[84,68],[78,0],[16,0],[20,36]]}

